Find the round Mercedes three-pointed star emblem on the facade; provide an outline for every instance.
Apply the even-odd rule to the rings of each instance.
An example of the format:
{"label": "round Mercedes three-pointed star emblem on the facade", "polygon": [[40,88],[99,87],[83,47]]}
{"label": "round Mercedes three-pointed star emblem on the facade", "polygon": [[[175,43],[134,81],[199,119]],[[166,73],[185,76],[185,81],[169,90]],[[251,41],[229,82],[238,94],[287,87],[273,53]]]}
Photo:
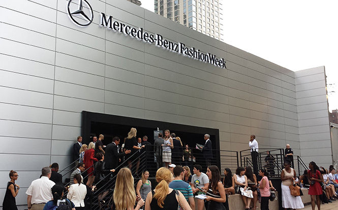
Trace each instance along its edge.
{"label": "round Mercedes three-pointed star emblem on the facade", "polygon": [[94,14],[87,0],[79,0],[78,4],[71,5],[72,2],[73,0],[69,0],[67,7],[70,18],[78,25],[89,25],[93,21]]}

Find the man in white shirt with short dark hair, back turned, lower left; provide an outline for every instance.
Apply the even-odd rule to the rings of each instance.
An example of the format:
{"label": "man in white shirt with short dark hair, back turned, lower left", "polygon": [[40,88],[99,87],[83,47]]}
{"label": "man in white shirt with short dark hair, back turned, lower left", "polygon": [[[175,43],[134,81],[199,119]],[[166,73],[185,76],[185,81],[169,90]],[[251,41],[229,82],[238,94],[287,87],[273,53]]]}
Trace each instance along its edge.
{"label": "man in white shirt with short dark hair, back turned, lower left", "polygon": [[46,202],[53,199],[52,187],[55,183],[49,180],[51,173],[50,167],[43,167],[41,178],[34,180],[28,187],[26,191],[28,210],[42,210]]}

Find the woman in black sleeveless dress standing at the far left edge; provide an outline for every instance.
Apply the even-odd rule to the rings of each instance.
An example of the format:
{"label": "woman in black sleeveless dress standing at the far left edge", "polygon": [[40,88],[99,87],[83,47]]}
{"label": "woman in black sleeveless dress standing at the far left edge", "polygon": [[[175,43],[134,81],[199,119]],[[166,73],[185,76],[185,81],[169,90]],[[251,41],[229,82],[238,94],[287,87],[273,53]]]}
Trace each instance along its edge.
{"label": "woman in black sleeveless dress standing at the far left edge", "polygon": [[6,193],[3,202],[3,209],[5,210],[17,210],[15,197],[19,193],[19,185],[15,184],[15,181],[18,179],[18,173],[15,171],[10,171],[9,178],[11,181],[7,183]]}

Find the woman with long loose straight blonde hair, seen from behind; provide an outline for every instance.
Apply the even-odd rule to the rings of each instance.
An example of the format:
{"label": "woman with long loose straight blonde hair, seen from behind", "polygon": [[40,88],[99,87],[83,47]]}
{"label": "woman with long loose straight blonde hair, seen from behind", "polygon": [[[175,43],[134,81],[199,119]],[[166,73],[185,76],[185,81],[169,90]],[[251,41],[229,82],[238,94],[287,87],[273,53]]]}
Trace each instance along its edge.
{"label": "woman with long loose straight blonde hair, seen from behind", "polygon": [[116,176],[116,184],[113,194],[115,210],[138,210],[144,205],[144,200],[140,198],[135,208],[136,198],[134,190],[134,178],[128,167],[122,168]]}

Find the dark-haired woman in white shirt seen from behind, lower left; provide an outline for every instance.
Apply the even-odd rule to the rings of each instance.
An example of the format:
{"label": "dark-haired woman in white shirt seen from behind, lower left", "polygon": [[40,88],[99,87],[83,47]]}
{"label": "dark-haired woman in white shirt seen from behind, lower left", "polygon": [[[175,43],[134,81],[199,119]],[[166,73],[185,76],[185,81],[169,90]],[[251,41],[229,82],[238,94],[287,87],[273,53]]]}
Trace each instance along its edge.
{"label": "dark-haired woman in white shirt seen from behind, lower left", "polygon": [[71,185],[67,194],[67,198],[74,203],[76,210],[85,209],[84,198],[87,194],[87,187],[81,183],[81,180],[81,175],[76,174],[74,176],[74,184]]}

